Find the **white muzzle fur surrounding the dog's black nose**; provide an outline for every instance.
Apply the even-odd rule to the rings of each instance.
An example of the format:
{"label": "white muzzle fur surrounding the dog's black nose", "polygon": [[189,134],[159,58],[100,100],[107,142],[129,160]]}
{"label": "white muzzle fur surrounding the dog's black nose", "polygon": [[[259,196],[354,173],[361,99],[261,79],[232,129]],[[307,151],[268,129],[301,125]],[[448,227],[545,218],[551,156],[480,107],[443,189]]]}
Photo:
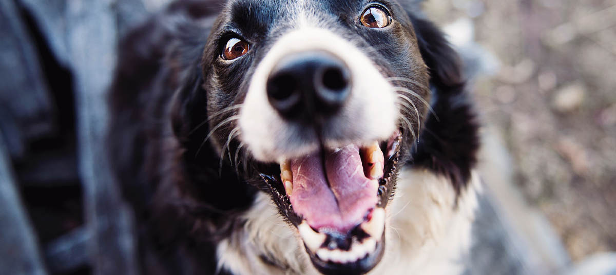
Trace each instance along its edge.
{"label": "white muzzle fur surrounding the dog's black nose", "polygon": [[[302,16],[303,18],[303,16]],[[299,18],[299,21],[304,19]],[[261,161],[306,155],[318,148],[312,130],[283,120],[270,106],[267,78],[278,61],[293,53],[322,50],[338,56],[351,70],[352,91],[328,126],[336,133],[327,145],[341,147],[389,138],[399,115],[395,91],[359,48],[323,28],[302,27],[282,36],[257,66],[240,110],[241,139]],[[300,139],[303,138],[303,139]]]}

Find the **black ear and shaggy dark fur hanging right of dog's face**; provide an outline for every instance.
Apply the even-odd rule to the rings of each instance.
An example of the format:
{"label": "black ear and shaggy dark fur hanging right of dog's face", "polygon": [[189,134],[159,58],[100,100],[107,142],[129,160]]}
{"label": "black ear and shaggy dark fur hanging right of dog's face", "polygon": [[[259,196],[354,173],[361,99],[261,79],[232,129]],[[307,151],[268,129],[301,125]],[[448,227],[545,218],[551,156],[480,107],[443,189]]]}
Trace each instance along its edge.
{"label": "black ear and shaggy dark fur hanging right of dog's face", "polygon": [[411,15],[421,56],[434,91],[426,129],[419,137],[411,165],[447,176],[457,193],[471,180],[479,150],[479,121],[466,91],[458,54],[430,21]]}

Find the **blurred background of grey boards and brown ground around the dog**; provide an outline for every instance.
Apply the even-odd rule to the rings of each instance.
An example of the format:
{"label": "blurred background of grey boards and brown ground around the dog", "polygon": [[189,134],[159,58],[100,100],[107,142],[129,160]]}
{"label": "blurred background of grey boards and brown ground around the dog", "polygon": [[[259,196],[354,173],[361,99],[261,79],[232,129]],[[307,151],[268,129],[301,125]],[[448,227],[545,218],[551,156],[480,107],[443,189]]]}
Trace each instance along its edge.
{"label": "blurred background of grey boards and brown ground around the dog", "polygon": [[[0,1],[1,274],[137,274],[106,91],[119,37],[168,2]],[[546,274],[614,274],[599,270],[616,265],[616,1],[423,5],[468,68],[513,242]]]}

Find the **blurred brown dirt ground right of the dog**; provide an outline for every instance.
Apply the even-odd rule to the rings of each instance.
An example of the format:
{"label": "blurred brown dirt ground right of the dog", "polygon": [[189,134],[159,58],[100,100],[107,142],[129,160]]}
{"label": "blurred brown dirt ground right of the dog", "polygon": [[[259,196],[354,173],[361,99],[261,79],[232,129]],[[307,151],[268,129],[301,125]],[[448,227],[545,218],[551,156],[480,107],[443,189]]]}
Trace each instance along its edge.
{"label": "blurred brown dirt ground right of the dog", "polygon": [[514,183],[573,260],[616,250],[616,0],[431,0],[445,26],[470,18],[496,57],[475,83]]}

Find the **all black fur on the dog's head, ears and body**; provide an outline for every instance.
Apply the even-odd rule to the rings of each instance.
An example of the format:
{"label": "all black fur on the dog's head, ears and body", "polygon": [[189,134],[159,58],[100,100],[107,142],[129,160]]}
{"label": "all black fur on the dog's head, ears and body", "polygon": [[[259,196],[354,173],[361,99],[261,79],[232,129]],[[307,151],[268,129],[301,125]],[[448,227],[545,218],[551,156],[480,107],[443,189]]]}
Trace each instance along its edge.
{"label": "all black fur on the dog's head, ears and body", "polygon": [[[222,1],[177,1],[131,31],[120,45],[110,98],[111,163],[136,213],[144,274],[214,274],[216,243],[243,225],[240,215],[259,189],[269,192],[258,173],[276,173],[270,164],[251,161],[245,150],[237,151],[238,168],[237,139],[220,166],[221,147],[231,126],[221,127],[204,142],[213,126],[225,118],[213,115],[243,101],[252,73],[248,68],[265,53],[222,64],[219,41],[228,36],[262,39],[267,48],[284,29],[275,1],[258,9],[246,1],[233,2],[230,9],[223,9]],[[355,9],[351,2],[321,1],[330,3],[326,8],[339,16],[331,16],[334,22],[354,20],[355,14],[349,14]],[[401,158],[408,165],[445,174],[461,190],[476,163],[479,141],[456,53],[440,31],[414,11],[415,6],[404,11],[393,2],[383,4],[399,14],[400,33],[371,37],[362,29],[339,31],[345,37],[363,35],[365,39],[357,42],[361,47],[389,45],[379,50],[382,58],[374,60],[385,71],[400,72],[397,76],[417,83],[427,83],[429,72],[434,113],[427,115],[416,146],[410,133],[405,133],[410,140]],[[271,24],[278,28],[270,28]],[[408,41],[396,37],[408,37]],[[405,50],[413,39],[421,56]],[[407,55],[399,56],[400,52]],[[424,64],[429,69],[425,74]],[[218,77],[216,83],[210,81],[213,75]],[[423,89],[427,93],[428,87]],[[416,106],[426,117],[428,110],[419,102]],[[237,113],[225,113],[231,114]],[[409,118],[420,123],[414,116]]]}

